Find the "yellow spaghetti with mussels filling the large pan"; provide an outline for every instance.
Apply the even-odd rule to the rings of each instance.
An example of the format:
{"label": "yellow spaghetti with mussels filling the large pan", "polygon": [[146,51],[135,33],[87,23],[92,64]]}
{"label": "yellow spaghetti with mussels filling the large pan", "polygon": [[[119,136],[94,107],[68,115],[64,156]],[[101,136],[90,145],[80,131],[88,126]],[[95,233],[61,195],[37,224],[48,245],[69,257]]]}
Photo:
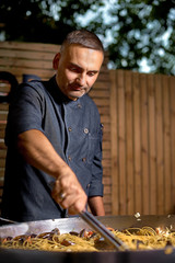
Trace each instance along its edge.
{"label": "yellow spaghetti with mussels filling the large pan", "polygon": [[[175,232],[171,230],[153,229],[150,227],[128,228],[122,231],[109,230],[121,239],[130,250],[153,250],[168,249],[168,252],[175,248]],[[7,249],[26,249],[26,250],[47,250],[47,251],[102,251],[113,250],[104,239],[94,231],[81,232],[71,231],[60,233],[59,229],[50,232],[31,236],[18,236],[15,238],[3,238],[0,240],[0,247]]]}

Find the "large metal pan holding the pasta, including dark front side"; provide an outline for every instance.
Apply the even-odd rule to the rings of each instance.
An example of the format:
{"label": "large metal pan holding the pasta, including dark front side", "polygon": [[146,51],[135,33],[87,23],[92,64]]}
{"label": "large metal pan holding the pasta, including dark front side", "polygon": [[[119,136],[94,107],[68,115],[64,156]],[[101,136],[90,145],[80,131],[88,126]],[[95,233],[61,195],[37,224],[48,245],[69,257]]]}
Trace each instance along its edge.
{"label": "large metal pan holding the pasta, including dark front side", "polygon": [[[98,217],[105,225],[115,229],[125,229],[129,227],[161,227],[175,231],[175,216],[141,216],[138,219],[135,216],[108,216]],[[40,220],[32,222],[22,222],[18,225],[7,225],[0,227],[0,237],[15,237],[24,233],[40,233],[59,228],[60,232],[72,230],[80,231],[90,227],[80,218],[65,218],[55,220]],[[116,251],[116,252],[45,252],[45,251],[24,251],[0,249],[1,263],[175,263],[175,249],[166,254],[166,250],[152,251]]]}

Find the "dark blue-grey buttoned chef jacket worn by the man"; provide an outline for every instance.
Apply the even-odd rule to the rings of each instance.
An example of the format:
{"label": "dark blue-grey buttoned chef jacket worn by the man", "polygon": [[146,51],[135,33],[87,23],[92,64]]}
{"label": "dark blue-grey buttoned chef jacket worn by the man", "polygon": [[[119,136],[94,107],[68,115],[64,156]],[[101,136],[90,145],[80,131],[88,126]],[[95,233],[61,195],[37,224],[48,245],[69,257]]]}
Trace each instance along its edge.
{"label": "dark blue-grey buttoned chef jacket worn by the man", "polygon": [[16,221],[66,217],[50,196],[54,179],[26,163],[16,150],[19,134],[40,130],[70,165],[88,196],[103,196],[102,125],[89,95],[66,98],[55,77],[19,87],[10,106],[2,216]]}

